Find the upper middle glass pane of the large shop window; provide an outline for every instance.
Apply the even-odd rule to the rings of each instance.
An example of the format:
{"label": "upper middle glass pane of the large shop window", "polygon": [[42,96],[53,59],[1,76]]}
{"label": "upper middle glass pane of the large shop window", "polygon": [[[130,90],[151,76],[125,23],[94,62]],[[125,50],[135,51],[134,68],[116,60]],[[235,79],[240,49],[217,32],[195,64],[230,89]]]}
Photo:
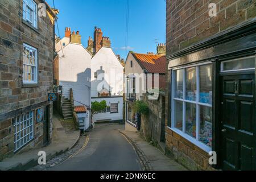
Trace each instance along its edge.
{"label": "upper middle glass pane of the large shop window", "polygon": [[186,100],[196,101],[196,67],[186,69]]}

